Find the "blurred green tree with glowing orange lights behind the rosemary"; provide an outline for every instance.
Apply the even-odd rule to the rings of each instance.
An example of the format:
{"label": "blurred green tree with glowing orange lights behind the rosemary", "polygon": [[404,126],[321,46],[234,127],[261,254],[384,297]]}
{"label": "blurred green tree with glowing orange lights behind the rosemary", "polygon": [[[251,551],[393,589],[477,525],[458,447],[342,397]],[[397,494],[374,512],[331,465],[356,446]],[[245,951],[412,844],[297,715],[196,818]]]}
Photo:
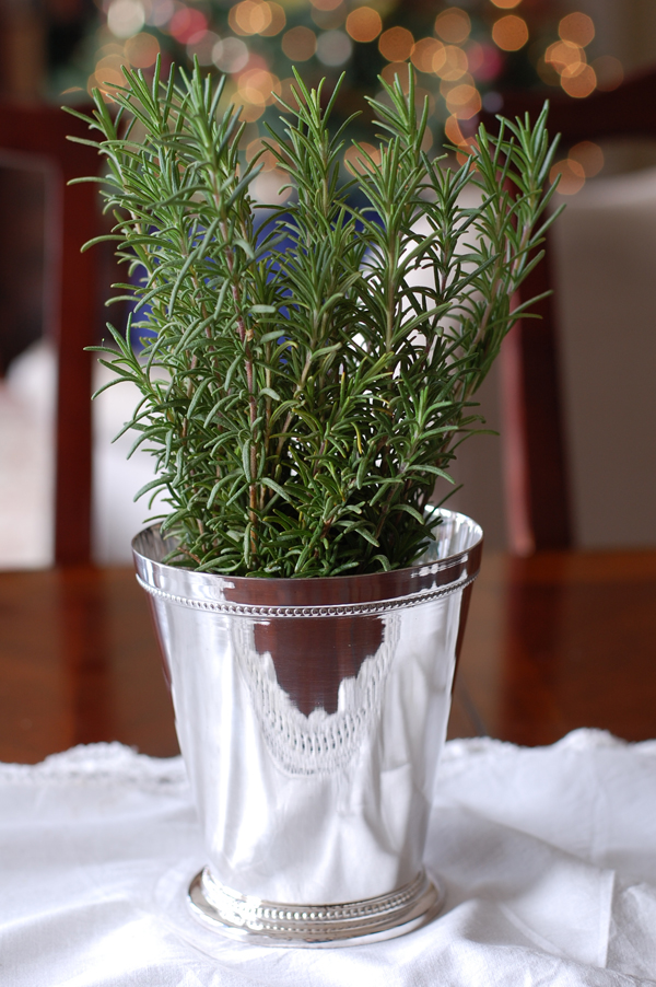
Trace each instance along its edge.
{"label": "blurred green tree with glowing orange lights behind the rosemary", "polygon": [[[284,78],[291,74],[290,61],[311,84],[326,74],[331,85],[342,67],[349,69],[349,86],[336,108],[340,120],[366,92],[372,92],[380,66],[386,82],[398,79],[408,91],[411,62],[425,86],[422,90],[417,85],[417,105],[429,97],[431,113],[435,114],[435,136],[447,119],[447,135],[450,130],[449,139],[464,154],[482,105],[499,109],[500,85],[524,89],[541,79],[574,98],[584,98],[596,88],[614,89],[623,78],[621,62],[611,56],[596,58],[589,65],[586,46],[595,37],[595,24],[591,16],[576,9],[583,0],[567,4],[565,10],[573,12],[566,15],[563,5],[558,10],[546,0],[444,0],[412,9],[401,0],[94,3],[107,15],[107,27],[101,27],[97,35],[96,46],[103,47],[94,58],[90,85],[99,83],[112,93],[113,86],[122,83],[122,65],[148,70],[160,50],[165,66],[172,60],[188,66],[194,58],[202,66],[216,66],[230,76],[222,105],[234,100],[243,106],[247,130],[242,150],[248,147],[249,155],[259,147],[260,118],[273,105],[273,94],[280,93],[295,105],[293,80]],[[266,42],[274,36],[274,40]],[[371,47],[359,49],[359,45]],[[526,50],[525,58],[506,57],[506,53],[519,49]],[[314,57],[314,68],[304,65]],[[93,62],[86,71],[92,68]],[[360,126],[366,125],[355,125],[354,132]],[[426,147],[432,139],[427,133]],[[595,152],[598,160],[593,151],[582,144],[566,159],[574,163],[572,166],[559,163],[570,186],[581,179],[577,169],[583,169],[585,181],[597,173],[595,167],[602,166],[601,151]],[[262,174],[280,171],[267,155],[262,165],[265,162]]]}

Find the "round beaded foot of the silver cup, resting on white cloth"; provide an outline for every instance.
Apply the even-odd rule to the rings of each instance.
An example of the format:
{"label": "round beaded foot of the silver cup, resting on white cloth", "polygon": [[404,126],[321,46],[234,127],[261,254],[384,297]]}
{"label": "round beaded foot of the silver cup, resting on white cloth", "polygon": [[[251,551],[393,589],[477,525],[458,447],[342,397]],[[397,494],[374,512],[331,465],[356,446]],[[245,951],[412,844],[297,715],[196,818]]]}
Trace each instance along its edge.
{"label": "round beaded foot of the silver cup, resting on white cloth", "polygon": [[266,902],[220,884],[209,868],[189,885],[188,904],[206,928],[254,945],[326,949],[379,942],[431,921],[443,895],[426,874],[398,891],[362,902],[297,905]]}

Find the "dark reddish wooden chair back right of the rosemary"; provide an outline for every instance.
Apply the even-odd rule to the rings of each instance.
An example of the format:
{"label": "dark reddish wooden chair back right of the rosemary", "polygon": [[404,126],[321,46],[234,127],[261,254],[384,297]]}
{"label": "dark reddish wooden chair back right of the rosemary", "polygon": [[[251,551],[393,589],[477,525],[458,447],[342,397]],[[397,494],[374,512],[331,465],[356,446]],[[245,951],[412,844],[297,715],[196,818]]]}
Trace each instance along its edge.
{"label": "dark reddish wooden chair back right of the rosemary", "polygon": [[[505,92],[502,113],[536,119],[544,93]],[[656,69],[635,76],[611,92],[585,100],[549,94],[549,131],[561,133],[563,148],[582,140],[656,138]],[[499,124],[483,114],[485,127]],[[522,288],[524,298],[553,289],[552,244]],[[504,472],[511,549],[570,548],[573,543],[565,430],[559,385],[557,315],[553,298],[535,310],[541,320],[518,323],[501,356]]]}

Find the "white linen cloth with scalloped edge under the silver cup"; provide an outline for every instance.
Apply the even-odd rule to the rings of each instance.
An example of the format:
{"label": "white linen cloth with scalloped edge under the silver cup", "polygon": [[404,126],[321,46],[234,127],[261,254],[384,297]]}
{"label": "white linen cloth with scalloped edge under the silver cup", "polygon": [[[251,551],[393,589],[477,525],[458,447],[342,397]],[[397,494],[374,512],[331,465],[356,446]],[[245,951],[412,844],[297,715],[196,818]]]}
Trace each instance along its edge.
{"label": "white linen cloth with scalloped edge under the silver cup", "polygon": [[656,741],[579,730],[551,747],[448,743],[426,852],[446,903],[396,940],[223,940],[184,904],[202,863],[179,758],[94,744],[1,765],[0,984],[656,984]]}

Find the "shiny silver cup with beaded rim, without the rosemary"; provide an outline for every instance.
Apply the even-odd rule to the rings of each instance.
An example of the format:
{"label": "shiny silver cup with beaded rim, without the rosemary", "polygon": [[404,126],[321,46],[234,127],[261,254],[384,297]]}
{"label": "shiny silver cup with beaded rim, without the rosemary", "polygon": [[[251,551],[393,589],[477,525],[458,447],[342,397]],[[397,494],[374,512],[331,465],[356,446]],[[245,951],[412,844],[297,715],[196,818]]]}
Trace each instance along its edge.
{"label": "shiny silver cup with beaded rim, without the rosemary", "polygon": [[[209,860],[191,901],[218,929],[339,944],[434,911],[423,848],[482,547],[441,513],[420,565],[376,576],[210,576],[162,565],[156,529],[134,539]],[[387,904],[363,926],[372,899]],[[332,918],[257,928],[326,906],[339,934]]]}

